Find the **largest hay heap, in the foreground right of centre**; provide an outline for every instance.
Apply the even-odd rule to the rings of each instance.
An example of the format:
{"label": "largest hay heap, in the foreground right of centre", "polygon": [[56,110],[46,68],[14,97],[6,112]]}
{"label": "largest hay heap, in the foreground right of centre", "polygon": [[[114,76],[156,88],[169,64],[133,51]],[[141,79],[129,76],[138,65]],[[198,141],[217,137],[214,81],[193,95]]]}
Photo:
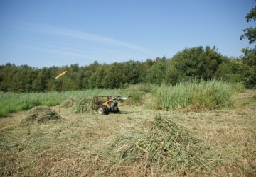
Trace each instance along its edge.
{"label": "largest hay heap, in the foreground right of centre", "polygon": [[149,171],[211,173],[213,154],[203,139],[169,118],[156,115],[154,120],[137,122],[104,147],[102,154],[114,166],[144,164]]}

